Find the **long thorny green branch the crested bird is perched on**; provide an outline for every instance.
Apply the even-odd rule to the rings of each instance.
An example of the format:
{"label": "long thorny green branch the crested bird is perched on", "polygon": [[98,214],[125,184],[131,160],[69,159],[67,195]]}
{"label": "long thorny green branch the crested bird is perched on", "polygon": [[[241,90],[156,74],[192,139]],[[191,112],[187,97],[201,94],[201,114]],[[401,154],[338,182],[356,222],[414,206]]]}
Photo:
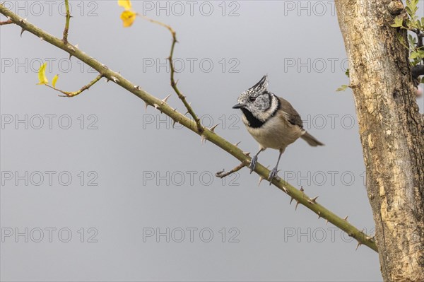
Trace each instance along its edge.
{"label": "long thorny green branch the crested bird is perched on", "polygon": [[[4,16],[8,16],[13,21],[13,23],[19,25],[21,28],[23,28],[23,30],[28,30],[28,32],[33,33],[37,37],[44,39],[46,42],[49,42],[50,44],[80,59],[88,66],[91,66],[93,69],[98,71],[102,76],[105,76],[105,78],[107,78],[108,80],[113,81],[118,86],[121,86],[122,88],[141,98],[141,100],[146,102],[147,105],[154,106],[156,109],[160,110],[160,112],[162,112],[163,114],[166,114],[175,122],[179,122],[179,124],[182,124],[187,129],[193,131],[196,134],[199,134],[202,139],[206,139],[208,141],[211,141],[211,143],[216,144],[216,146],[230,153],[232,156],[237,158],[237,160],[240,160],[243,165],[249,165],[251,158],[247,154],[243,153],[240,148],[223,139],[223,137],[214,133],[211,129],[204,129],[203,131],[199,130],[196,122],[194,122],[192,119],[189,119],[188,117],[185,117],[184,114],[177,112],[177,110],[170,107],[170,105],[167,104],[165,99],[160,100],[158,98],[155,98],[153,95],[143,90],[140,86],[134,85],[134,83],[131,83],[130,81],[126,80],[117,72],[107,68],[107,66],[105,66],[104,64],[100,64],[100,62],[95,60],[93,57],[90,57],[88,54],[82,52],[73,45],[70,45],[69,43],[64,42],[63,40],[60,40],[59,38],[54,37],[49,33],[46,33],[44,30],[37,28],[35,25],[28,23],[28,21],[9,11],[1,4],[0,13],[2,13]],[[266,179],[269,175],[269,170],[266,169],[263,165],[260,165],[259,163],[257,164],[254,171],[264,179]],[[291,186],[280,178],[274,179],[272,183],[276,187],[281,189],[283,192],[288,194],[288,196],[290,196],[292,199],[294,199],[297,202],[296,206],[298,206],[298,204],[302,204],[303,206],[309,208],[311,211],[316,213],[318,215],[318,218],[324,218],[326,221],[333,223],[338,228],[348,233],[348,235],[355,238],[355,240],[358,240],[358,245],[366,245],[367,247],[370,247],[371,249],[374,249],[377,252],[377,246],[373,237],[366,235],[362,231],[358,230],[358,228],[355,228],[355,226],[353,226],[347,221],[347,218],[341,218],[339,216],[336,216],[336,214],[332,213],[327,208],[317,203],[316,197],[310,198],[310,196],[307,196],[307,194],[305,194],[303,189],[296,189],[295,187]]]}

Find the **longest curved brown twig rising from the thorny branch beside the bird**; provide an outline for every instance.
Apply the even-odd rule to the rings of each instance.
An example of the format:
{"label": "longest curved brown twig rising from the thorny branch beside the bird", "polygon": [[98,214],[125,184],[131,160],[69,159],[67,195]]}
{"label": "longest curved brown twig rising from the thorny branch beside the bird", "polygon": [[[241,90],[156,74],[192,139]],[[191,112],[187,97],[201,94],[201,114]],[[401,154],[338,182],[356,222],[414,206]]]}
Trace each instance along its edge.
{"label": "longest curved brown twig rising from the thorny branch beside the bird", "polygon": [[[137,14],[137,15],[139,15],[139,14]],[[139,16],[141,16],[141,15],[139,15]],[[197,114],[194,112],[194,110],[193,110],[192,106],[189,104],[189,102],[187,102],[186,97],[181,93],[181,91],[177,87],[177,82],[175,81],[175,66],[174,66],[174,62],[172,61],[172,56],[174,54],[175,44],[178,42],[178,40],[177,40],[177,33],[175,33],[175,30],[173,30],[170,27],[170,25],[167,25],[165,23],[162,23],[162,22],[160,22],[158,20],[153,20],[152,18],[148,18],[146,16],[141,16],[141,18],[144,18],[145,20],[148,20],[151,23],[156,23],[158,25],[162,25],[164,28],[167,28],[167,30],[170,31],[170,33],[172,35],[172,45],[171,45],[170,56],[167,57],[167,59],[168,59],[168,61],[170,61],[171,86],[172,86],[172,89],[174,89],[175,93],[177,93],[179,100],[182,100],[182,103],[186,107],[187,112],[193,117],[194,122],[196,122],[196,126],[197,126],[197,129],[199,130],[199,132],[200,133],[203,132],[204,131],[204,127],[201,126],[199,117],[197,117]]]}

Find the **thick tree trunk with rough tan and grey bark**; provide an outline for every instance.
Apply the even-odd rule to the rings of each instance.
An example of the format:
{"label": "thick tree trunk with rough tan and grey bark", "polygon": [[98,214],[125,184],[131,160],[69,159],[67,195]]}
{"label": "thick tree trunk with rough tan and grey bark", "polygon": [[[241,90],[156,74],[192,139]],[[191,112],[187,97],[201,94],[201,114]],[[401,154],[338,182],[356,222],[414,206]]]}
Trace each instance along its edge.
{"label": "thick tree trunk with rough tan and grey bark", "polygon": [[336,0],[336,9],[350,61],[382,276],[424,281],[423,121],[408,51],[397,37],[406,33],[391,28],[390,2]]}

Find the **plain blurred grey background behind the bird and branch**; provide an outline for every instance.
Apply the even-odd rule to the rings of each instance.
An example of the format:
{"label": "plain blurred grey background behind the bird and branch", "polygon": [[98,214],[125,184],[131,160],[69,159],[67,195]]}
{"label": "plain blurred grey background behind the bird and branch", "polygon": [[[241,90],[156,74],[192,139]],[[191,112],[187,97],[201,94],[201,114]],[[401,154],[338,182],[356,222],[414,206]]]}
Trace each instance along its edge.
{"label": "plain blurred grey background behind the bird and branch", "polygon": [[[61,37],[62,2],[6,4]],[[72,44],[153,95],[172,93],[167,30],[141,18],[122,28],[117,1],[71,7]],[[373,232],[352,93],[335,91],[348,84],[348,63],[332,1],[133,1],[133,8],[177,30],[180,89],[204,124],[220,123],[218,134],[242,141],[244,151],[256,152],[257,143],[231,107],[269,74],[269,90],[326,144],[289,146],[279,175]],[[375,252],[355,251],[341,230],[304,206],[295,211],[276,187],[258,187],[247,169],[224,182],[213,177],[237,160],[172,129],[114,83],[102,80],[72,99],[36,86],[41,61],[63,90],[96,74],[19,33],[0,28],[2,281],[382,280]],[[182,111],[175,95],[168,102]],[[277,157],[270,149],[259,162],[273,167]]]}

